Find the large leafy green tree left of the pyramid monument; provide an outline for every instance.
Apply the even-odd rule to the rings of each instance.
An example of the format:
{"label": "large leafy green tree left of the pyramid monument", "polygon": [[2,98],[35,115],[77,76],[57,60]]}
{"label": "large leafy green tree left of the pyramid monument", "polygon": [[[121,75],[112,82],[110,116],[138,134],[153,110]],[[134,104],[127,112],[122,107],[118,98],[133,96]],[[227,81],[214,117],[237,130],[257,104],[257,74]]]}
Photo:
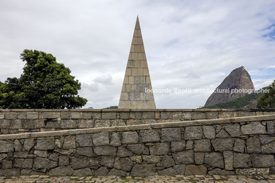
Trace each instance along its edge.
{"label": "large leafy green tree left of the pyramid monument", "polygon": [[77,95],[81,83],[52,54],[24,50],[21,59],[26,62],[23,74],[20,78],[7,78],[0,97],[1,108],[71,109],[87,103],[87,99]]}

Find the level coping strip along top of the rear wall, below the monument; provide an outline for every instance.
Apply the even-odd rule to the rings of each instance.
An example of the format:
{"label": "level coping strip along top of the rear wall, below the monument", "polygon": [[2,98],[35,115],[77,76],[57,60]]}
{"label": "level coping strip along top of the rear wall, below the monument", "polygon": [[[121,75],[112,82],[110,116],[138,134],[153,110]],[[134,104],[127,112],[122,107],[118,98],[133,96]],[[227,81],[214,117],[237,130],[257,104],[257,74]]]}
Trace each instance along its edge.
{"label": "level coping strip along top of the rear wall, below the monument", "polygon": [[0,109],[0,112],[275,112],[275,109]]}

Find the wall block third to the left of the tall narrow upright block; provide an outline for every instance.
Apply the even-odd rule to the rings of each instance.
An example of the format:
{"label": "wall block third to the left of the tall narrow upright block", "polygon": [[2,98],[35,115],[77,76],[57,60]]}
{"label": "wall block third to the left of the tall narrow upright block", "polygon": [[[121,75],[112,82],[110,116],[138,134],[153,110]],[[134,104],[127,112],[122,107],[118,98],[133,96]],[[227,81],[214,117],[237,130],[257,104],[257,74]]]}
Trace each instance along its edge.
{"label": "wall block third to the left of the tall narrow upright block", "polygon": [[173,153],[175,164],[194,164],[194,151],[187,150],[182,152]]}

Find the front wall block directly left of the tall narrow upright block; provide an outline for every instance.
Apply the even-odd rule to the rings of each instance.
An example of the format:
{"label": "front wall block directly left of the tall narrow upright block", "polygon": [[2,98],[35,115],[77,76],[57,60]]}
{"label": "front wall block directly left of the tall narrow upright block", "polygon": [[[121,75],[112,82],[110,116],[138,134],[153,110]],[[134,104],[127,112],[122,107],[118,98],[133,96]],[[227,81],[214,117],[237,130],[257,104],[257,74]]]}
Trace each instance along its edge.
{"label": "front wall block directly left of the tall narrow upright block", "polygon": [[211,167],[224,168],[223,155],[219,152],[205,153],[204,163]]}

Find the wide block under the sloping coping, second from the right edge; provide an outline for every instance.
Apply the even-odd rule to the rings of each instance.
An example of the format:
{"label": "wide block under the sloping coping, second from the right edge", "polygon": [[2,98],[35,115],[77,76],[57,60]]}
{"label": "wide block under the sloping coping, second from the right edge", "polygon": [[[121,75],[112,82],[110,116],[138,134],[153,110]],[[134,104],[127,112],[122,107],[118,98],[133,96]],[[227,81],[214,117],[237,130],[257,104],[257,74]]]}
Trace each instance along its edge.
{"label": "wide block under the sloping coping, second from the right edge", "polygon": [[250,122],[248,125],[241,126],[241,132],[244,135],[252,134],[265,134],[265,126],[260,123],[260,121]]}

